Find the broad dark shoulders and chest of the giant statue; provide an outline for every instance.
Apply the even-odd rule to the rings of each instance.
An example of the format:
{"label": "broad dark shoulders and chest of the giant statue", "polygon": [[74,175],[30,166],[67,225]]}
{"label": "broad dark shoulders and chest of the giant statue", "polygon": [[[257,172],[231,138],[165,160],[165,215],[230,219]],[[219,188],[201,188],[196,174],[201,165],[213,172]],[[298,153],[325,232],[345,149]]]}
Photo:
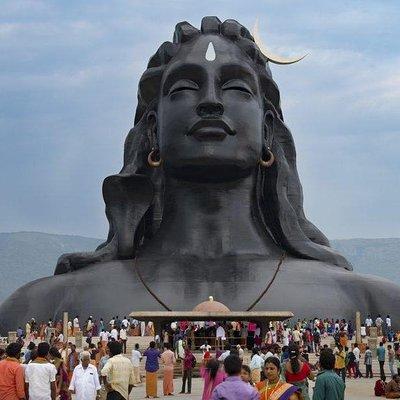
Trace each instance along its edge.
{"label": "broad dark shoulders and chest of the giant statue", "polygon": [[[146,284],[173,311],[191,311],[209,296],[232,311],[243,311],[265,289],[277,264],[276,260],[233,258],[229,272],[218,265],[217,260],[175,263],[158,259],[139,267]],[[355,311],[389,313],[397,325],[399,303],[400,288],[385,279],[288,257],[254,310],[292,311],[296,319],[354,320]],[[18,289],[0,306],[0,332],[15,330],[32,317],[37,321],[61,319],[63,311],[107,319],[135,310],[165,311],[139,280],[133,260],[102,262]]]}

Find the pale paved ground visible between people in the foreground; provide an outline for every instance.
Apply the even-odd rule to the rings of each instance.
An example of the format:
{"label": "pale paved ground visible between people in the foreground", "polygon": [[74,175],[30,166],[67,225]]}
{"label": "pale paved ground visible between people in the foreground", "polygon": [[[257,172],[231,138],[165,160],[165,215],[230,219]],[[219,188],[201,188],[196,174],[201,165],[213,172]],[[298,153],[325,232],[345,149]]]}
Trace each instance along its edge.
{"label": "pale paved ground visible between people in the foreground", "polygon": [[[348,379],[346,381],[346,400],[366,400],[366,399],[376,399],[374,396],[374,379]],[[175,393],[179,393],[181,390],[181,379],[174,379],[174,388]],[[314,386],[311,383],[311,386]],[[192,394],[176,394],[174,397],[182,399],[182,400],[200,400],[201,393],[203,389],[203,380],[201,378],[193,379],[193,388]],[[145,394],[145,385],[142,384],[139,387],[133,388],[129,399],[144,399]],[[171,398],[171,396],[163,396],[162,395],[162,381],[158,381],[158,396],[164,398]]]}

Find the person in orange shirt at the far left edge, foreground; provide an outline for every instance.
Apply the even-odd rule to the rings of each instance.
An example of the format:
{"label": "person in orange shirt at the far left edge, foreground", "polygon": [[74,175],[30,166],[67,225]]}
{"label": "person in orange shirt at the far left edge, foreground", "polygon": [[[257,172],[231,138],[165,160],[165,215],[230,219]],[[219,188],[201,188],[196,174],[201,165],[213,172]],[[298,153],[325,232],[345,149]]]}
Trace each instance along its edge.
{"label": "person in orange shirt at the far left edge, foreground", "polygon": [[7,358],[0,361],[0,399],[25,399],[24,369],[19,363],[21,346],[10,343],[6,355]]}

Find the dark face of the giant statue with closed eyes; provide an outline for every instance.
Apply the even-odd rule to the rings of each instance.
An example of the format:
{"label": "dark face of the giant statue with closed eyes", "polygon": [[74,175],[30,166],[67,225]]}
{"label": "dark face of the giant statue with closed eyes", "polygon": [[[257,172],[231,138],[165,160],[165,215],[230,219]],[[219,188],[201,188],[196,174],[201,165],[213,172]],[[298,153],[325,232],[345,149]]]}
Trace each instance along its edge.
{"label": "dark face of the giant statue with closed eyes", "polygon": [[248,175],[261,157],[263,119],[258,76],[236,45],[218,35],[183,45],[163,75],[157,112],[166,174],[212,180]]}

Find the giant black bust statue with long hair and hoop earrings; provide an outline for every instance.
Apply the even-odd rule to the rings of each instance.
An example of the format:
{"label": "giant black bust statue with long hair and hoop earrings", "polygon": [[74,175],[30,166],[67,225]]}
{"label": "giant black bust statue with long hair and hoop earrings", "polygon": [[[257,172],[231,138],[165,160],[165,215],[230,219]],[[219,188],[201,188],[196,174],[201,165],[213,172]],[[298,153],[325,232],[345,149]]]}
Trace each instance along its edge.
{"label": "giant black bust statue with long hair and hoop earrings", "polygon": [[176,26],[140,79],[124,166],[104,180],[110,229],[91,253],[0,306],[0,330],[72,314],[231,310],[352,318],[397,312],[400,288],[352,272],[306,218],[279,90],[250,32],[205,17]]}

